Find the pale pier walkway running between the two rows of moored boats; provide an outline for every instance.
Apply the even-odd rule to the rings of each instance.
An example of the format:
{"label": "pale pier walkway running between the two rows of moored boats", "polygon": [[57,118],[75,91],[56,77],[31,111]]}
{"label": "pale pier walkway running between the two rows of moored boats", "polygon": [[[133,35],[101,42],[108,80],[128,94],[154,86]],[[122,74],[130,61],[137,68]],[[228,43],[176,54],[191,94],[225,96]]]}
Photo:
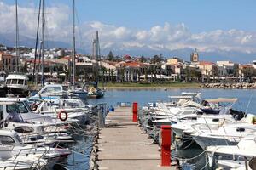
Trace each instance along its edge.
{"label": "pale pier walkway running between the two rows of moored boats", "polygon": [[98,140],[99,169],[175,169],[160,167],[158,145],[152,144],[152,139],[142,133],[137,122],[132,122],[131,107],[116,108],[108,113],[106,120]]}

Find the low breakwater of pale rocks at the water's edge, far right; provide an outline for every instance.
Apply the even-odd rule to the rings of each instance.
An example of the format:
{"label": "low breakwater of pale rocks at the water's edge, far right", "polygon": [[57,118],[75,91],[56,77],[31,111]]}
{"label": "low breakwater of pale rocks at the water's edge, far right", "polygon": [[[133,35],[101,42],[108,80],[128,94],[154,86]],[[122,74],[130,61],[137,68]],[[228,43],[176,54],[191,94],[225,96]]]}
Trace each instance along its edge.
{"label": "low breakwater of pale rocks at the water's edge, far right", "polygon": [[201,88],[240,88],[240,89],[253,89],[256,88],[256,82],[247,83],[247,82],[239,82],[239,83],[202,83],[200,85]]}

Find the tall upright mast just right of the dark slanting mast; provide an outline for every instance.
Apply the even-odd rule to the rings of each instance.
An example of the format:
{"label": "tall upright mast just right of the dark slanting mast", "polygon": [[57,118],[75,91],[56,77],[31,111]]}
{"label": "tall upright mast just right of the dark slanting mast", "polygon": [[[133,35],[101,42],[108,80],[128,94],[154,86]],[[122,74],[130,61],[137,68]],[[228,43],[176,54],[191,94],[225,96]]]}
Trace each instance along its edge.
{"label": "tall upright mast just right of the dark slanting mast", "polygon": [[44,20],[44,0],[42,2],[42,42],[41,42],[41,49],[42,49],[42,57],[41,57],[41,84],[42,86],[44,86],[44,23],[45,23],[45,20]]}

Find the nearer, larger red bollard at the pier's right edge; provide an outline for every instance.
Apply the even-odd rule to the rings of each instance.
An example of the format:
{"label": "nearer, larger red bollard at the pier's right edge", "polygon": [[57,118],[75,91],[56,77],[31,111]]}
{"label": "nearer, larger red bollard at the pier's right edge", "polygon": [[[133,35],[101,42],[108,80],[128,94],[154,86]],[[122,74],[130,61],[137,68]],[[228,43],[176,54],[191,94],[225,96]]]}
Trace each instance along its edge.
{"label": "nearer, larger red bollard at the pier's right edge", "polygon": [[170,167],[171,166],[171,133],[172,128],[170,125],[161,126],[162,133],[162,145],[161,145],[161,166]]}

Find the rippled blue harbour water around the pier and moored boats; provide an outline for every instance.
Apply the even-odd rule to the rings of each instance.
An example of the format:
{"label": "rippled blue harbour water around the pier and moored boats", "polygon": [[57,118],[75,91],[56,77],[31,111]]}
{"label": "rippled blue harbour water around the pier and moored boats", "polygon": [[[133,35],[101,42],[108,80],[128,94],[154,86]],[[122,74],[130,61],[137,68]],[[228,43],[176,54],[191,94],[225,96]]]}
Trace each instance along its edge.
{"label": "rippled blue harbour water around the pier and moored boats", "polygon": [[[256,90],[253,89],[110,89],[105,92],[104,98],[88,99],[88,102],[89,104],[107,103],[108,106],[115,107],[119,102],[132,103],[137,101],[140,106],[143,106],[147,105],[148,102],[168,101],[168,96],[179,95],[182,92],[200,92],[202,99],[238,98],[238,102],[233,106],[234,108],[256,114]],[[62,162],[64,167],[68,169],[80,169],[81,167],[88,169],[91,141],[90,134],[86,135],[84,133],[84,136],[77,136],[76,143],[70,145],[70,148],[75,152],[68,156],[67,161]]]}

